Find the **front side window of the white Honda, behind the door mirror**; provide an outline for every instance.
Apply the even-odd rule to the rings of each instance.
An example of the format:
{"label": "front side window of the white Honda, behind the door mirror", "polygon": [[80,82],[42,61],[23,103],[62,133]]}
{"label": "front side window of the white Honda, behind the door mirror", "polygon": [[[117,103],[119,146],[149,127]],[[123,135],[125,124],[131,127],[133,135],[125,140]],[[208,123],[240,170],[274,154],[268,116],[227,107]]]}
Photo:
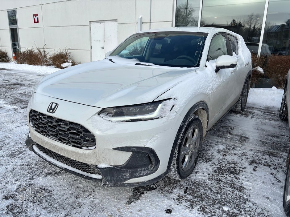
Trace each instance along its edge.
{"label": "front side window of the white Honda, behind the door mirror", "polygon": [[213,37],[210,47],[208,60],[217,59],[219,56],[228,55],[226,48],[226,38],[225,34],[218,34]]}

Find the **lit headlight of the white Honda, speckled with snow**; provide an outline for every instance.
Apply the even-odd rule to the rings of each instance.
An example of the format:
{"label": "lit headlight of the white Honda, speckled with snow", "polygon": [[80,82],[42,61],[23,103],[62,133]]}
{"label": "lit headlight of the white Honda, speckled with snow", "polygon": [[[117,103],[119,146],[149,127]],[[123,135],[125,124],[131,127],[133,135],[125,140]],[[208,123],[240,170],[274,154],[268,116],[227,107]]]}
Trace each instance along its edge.
{"label": "lit headlight of the white Honda, speckled with snow", "polygon": [[[172,109],[173,105],[166,103],[168,101],[171,101],[171,99],[131,106],[104,108],[98,115],[104,119],[119,122],[152,120],[161,118],[164,114],[164,109],[167,112]],[[170,108],[164,108],[168,106]]]}

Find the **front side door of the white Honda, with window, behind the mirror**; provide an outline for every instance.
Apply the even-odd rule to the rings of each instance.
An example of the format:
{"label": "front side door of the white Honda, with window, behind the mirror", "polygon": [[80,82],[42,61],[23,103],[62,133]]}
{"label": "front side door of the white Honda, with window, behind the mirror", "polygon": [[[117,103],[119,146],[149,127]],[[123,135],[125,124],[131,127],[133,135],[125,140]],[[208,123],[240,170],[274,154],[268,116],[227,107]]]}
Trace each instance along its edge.
{"label": "front side door of the white Honda, with window, behind the mirror", "polygon": [[[219,33],[213,36],[209,46],[208,61],[214,64],[216,59],[222,55],[231,55],[228,39],[225,33]],[[209,126],[216,123],[230,109],[234,100],[233,90],[235,89],[235,77],[231,73],[234,69],[221,69],[214,73],[213,97],[211,103],[211,112]]]}

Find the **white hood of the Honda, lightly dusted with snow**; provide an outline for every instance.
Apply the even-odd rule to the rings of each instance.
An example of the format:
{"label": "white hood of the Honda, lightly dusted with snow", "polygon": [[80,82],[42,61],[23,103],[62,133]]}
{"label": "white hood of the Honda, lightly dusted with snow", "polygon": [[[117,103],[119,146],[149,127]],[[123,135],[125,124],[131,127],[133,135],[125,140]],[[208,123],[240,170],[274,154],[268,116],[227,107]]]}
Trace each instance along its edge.
{"label": "white hood of the Honda, lightly dusted with snow", "polygon": [[[100,108],[151,102],[195,71],[162,66],[117,64],[108,59],[52,73],[34,92]],[[179,79],[177,79],[179,78]]]}

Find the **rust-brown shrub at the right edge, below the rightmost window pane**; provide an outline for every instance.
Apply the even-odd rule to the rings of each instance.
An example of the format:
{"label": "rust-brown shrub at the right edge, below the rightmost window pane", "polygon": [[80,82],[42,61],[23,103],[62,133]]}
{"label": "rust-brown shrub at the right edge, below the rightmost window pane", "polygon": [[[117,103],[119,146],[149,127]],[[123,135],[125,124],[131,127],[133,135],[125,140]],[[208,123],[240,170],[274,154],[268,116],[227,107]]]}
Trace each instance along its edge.
{"label": "rust-brown shrub at the right edge, below the rightmost window pane", "polygon": [[278,88],[284,88],[289,68],[290,56],[271,55],[268,57],[265,70],[267,71],[267,77],[277,83]]}

